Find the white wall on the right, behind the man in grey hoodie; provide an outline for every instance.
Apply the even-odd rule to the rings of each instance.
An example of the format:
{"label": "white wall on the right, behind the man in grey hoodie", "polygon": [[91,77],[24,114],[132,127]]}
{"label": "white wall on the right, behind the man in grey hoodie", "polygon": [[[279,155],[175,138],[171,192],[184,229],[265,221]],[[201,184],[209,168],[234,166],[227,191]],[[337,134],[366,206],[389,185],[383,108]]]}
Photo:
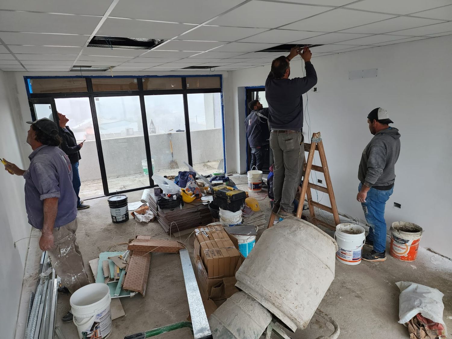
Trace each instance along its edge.
{"label": "white wall on the right, behind the man in grey hoodie", "polygon": [[[421,245],[452,258],[452,36],[313,58],[318,93],[308,93],[311,133],[322,133],[340,212],[364,220],[356,201],[358,163],[372,138],[367,113],[386,108],[400,129],[401,152],[386,221],[412,221],[425,230]],[[301,60],[291,75],[302,76]],[[378,68],[376,78],[348,80],[348,71]],[[269,66],[232,72],[237,171],[245,170],[237,87],[264,85]],[[304,95],[306,104],[306,95]],[[306,122],[303,128],[307,137]],[[320,179],[320,177],[319,177]],[[319,195],[319,198],[321,196]],[[322,199],[322,203],[328,198]],[[400,203],[401,209],[392,207]]]}

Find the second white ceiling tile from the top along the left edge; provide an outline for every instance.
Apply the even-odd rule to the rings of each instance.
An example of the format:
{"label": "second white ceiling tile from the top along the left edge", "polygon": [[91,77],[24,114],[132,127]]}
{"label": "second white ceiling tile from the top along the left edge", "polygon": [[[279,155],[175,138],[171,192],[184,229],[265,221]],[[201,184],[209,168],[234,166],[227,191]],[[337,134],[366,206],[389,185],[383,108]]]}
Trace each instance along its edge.
{"label": "second white ceiling tile from the top along the left edge", "polygon": [[0,11],[0,31],[91,34],[100,17]]}

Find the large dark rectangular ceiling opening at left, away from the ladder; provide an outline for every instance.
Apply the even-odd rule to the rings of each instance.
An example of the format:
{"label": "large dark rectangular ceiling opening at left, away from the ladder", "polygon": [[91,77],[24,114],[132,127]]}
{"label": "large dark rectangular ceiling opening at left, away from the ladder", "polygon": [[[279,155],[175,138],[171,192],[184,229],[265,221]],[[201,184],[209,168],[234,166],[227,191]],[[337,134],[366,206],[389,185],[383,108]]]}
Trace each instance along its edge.
{"label": "large dark rectangular ceiling opening at left, away from the ladder", "polygon": [[95,35],[89,42],[88,47],[151,49],[165,41],[164,39],[121,38]]}

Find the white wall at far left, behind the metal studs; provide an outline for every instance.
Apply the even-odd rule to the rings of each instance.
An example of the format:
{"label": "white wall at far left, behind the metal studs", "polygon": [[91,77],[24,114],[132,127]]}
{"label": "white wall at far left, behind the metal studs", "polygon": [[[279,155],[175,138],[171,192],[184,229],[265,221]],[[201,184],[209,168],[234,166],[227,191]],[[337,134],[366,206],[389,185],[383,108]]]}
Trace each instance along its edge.
{"label": "white wall at far left, behind the metal studs", "polygon": [[[20,118],[14,109],[16,99],[5,72],[0,71],[0,157],[24,168],[19,144],[25,139],[20,139],[15,129]],[[12,176],[3,165],[0,167],[0,216],[0,328],[2,337],[14,338],[29,239],[20,240],[16,248],[14,241],[30,236],[31,226],[25,212],[24,178]]]}

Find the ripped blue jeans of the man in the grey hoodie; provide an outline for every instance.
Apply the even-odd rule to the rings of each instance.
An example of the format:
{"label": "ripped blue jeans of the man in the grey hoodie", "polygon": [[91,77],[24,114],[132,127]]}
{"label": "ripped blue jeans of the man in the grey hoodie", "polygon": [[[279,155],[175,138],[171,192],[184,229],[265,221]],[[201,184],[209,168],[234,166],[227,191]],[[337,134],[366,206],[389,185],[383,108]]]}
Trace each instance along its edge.
{"label": "ripped blue jeans of the man in the grey hoodie", "polygon": [[[358,192],[362,187],[363,184],[360,183]],[[386,250],[385,206],[393,191],[394,188],[387,191],[371,188],[367,192],[366,202],[361,202],[364,217],[370,226],[367,239],[373,241],[373,249],[380,253]]]}

